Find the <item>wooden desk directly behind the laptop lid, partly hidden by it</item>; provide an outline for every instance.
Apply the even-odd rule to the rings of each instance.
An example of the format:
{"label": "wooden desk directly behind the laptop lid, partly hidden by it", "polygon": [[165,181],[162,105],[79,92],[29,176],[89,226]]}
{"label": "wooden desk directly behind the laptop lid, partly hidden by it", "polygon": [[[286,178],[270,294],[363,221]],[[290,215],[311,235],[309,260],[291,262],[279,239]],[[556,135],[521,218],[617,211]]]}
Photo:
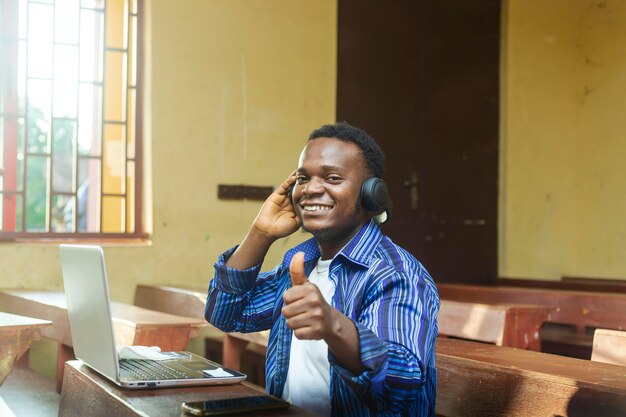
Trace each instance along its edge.
{"label": "wooden desk directly behind the laptop lid, partly hidden by it", "polygon": [[[57,387],[63,381],[64,363],[74,359],[65,294],[54,291],[0,291],[3,310],[51,320],[42,335],[58,342]],[[150,311],[124,303],[111,303],[115,342],[120,346],[159,346],[162,350],[183,350],[206,325],[205,320]]]}

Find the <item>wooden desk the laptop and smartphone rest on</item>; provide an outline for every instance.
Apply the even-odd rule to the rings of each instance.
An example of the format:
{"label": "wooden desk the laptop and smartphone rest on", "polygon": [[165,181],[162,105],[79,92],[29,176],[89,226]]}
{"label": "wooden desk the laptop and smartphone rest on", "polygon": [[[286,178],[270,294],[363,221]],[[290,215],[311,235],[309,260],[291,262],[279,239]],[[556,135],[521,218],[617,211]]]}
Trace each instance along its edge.
{"label": "wooden desk the laptop and smartphone rest on", "polygon": [[[181,417],[183,401],[204,401],[265,394],[247,383],[212,387],[123,390],[81,361],[65,364],[59,417]],[[260,416],[253,413],[250,416]],[[312,416],[297,407],[264,411],[263,416]]]}

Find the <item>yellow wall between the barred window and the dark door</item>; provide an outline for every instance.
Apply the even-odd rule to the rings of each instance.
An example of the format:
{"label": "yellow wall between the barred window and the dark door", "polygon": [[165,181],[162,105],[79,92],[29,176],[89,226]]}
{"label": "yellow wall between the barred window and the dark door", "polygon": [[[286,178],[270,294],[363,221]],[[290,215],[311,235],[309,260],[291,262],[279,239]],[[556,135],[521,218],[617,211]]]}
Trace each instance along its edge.
{"label": "yellow wall between the barred window and the dark door", "polygon": [[[336,0],[146,2],[151,245],[105,248],[111,298],[138,283],[206,288],[259,202],[217,184],[277,185],[335,118]],[[151,154],[151,158],[150,158]],[[306,238],[277,242],[266,266]],[[0,287],[62,289],[56,245],[0,245]]]}

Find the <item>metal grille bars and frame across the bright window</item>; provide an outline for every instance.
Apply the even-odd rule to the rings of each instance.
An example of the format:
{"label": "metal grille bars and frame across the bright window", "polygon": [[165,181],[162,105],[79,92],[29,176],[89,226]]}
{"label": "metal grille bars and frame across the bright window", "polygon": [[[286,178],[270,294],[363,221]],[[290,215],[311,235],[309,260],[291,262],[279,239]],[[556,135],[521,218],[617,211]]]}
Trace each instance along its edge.
{"label": "metal grille bars and frame across the bright window", "polygon": [[[5,9],[10,10],[11,7],[15,7],[17,9],[17,1],[18,0],[14,0],[14,1],[7,1],[7,2],[3,2],[5,3],[5,5],[7,3],[12,3],[12,5],[10,6],[5,6]],[[133,3],[129,3],[133,2]],[[101,20],[103,28],[101,31],[101,34],[103,36],[103,39],[97,39],[97,42],[100,42],[102,44],[102,49],[101,51],[101,60],[102,62],[100,63],[101,67],[101,71],[100,74],[102,76],[102,81],[98,81],[96,80],[96,82],[92,82],[90,84],[96,86],[96,85],[100,85],[102,86],[102,92],[101,92],[101,97],[100,97],[100,106],[101,106],[101,115],[100,115],[100,153],[99,156],[94,156],[94,155],[81,155],[80,151],[79,151],[79,146],[78,146],[78,138],[79,138],[79,131],[78,129],[80,129],[80,123],[79,123],[79,112],[80,112],[80,106],[78,105],[80,100],[79,100],[79,96],[80,96],[80,84],[82,83],[82,81],[80,80],[80,71],[78,72],[78,86],[77,86],[77,97],[76,97],[76,118],[73,117],[55,117],[55,113],[54,113],[54,77],[55,77],[55,73],[54,73],[54,59],[55,59],[55,53],[56,53],[56,46],[57,45],[67,45],[67,46],[76,46],[78,51],[77,51],[77,65],[80,65],[80,47],[79,44],[75,44],[72,42],[57,42],[56,39],[56,30],[54,27],[54,24],[56,23],[55,20],[55,13],[56,13],[56,6],[54,3],[50,4],[50,3],[44,3],[44,2],[39,2],[39,1],[35,1],[35,0],[28,0],[26,2],[26,7],[24,12],[26,13],[26,25],[27,27],[25,28],[25,33],[26,33],[26,38],[21,38],[19,36],[16,36],[15,39],[18,39],[18,41],[15,42],[15,45],[13,45],[13,47],[17,50],[17,46],[19,41],[23,41],[24,43],[24,54],[26,56],[26,68],[25,68],[25,108],[24,108],[24,114],[20,115],[19,114],[19,109],[17,108],[17,104],[15,104],[16,107],[16,112],[17,114],[11,113],[11,112],[4,112],[2,114],[0,114],[0,117],[3,118],[4,123],[3,125],[5,125],[8,121],[8,119],[10,119],[11,117],[15,118],[17,125],[19,126],[19,119],[23,119],[23,125],[22,125],[22,137],[23,137],[23,143],[21,144],[21,151],[22,151],[22,155],[23,155],[23,162],[21,163],[21,169],[19,169],[20,172],[18,171],[18,166],[16,165],[14,168],[14,177],[21,177],[21,190],[17,189],[17,184],[10,184],[13,185],[11,188],[13,189],[7,189],[6,185],[7,183],[5,182],[5,180],[7,179],[7,173],[6,173],[6,168],[7,168],[7,164],[5,163],[4,169],[2,170],[2,173],[0,174],[0,178],[3,180],[3,187],[2,190],[0,190],[0,200],[2,200],[2,204],[3,204],[3,219],[7,219],[7,214],[11,214],[11,209],[13,209],[13,213],[14,213],[14,217],[13,217],[13,227],[11,227],[11,224],[9,223],[9,227],[7,230],[7,221],[3,221],[1,224],[2,230],[0,231],[0,239],[1,240],[17,240],[17,239],[22,239],[22,238],[61,238],[61,239],[73,239],[73,238],[80,238],[80,237],[85,237],[85,238],[103,238],[103,237],[111,237],[111,238],[125,238],[125,237],[131,237],[131,238],[145,238],[146,234],[143,233],[143,223],[142,223],[142,219],[141,219],[141,215],[142,215],[142,172],[141,172],[141,168],[142,168],[142,147],[141,147],[141,139],[142,139],[142,130],[143,130],[143,121],[141,118],[141,114],[142,114],[142,102],[141,102],[141,74],[142,74],[142,61],[143,61],[143,56],[142,56],[142,44],[143,44],[143,34],[142,34],[142,29],[143,29],[143,22],[142,22],[142,0],[125,0],[124,1],[124,18],[123,18],[123,28],[122,30],[124,31],[123,33],[123,37],[122,39],[125,40],[125,45],[123,48],[119,48],[119,47],[109,47],[106,45],[106,40],[107,40],[107,17],[106,17],[106,1],[104,2],[104,7],[102,9],[98,9],[98,8],[89,8],[89,7],[83,7],[82,5],[79,4],[79,12],[78,12],[78,32],[80,33],[80,25],[82,23],[82,16],[80,11],[81,10],[90,10],[92,12],[99,12],[103,14],[103,18]],[[52,78],[47,78],[47,77],[34,77],[31,76],[29,74],[29,59],[28,59],[28,53],[29,53],[29,32],[28,32],[28,25],[30,24],[30,19],[29,19],[29,13],[30,13],[30,5],[31,4],[40,4],[40,5],[46,5],[46,6],[50,6],[52,7],[52,30],[53,30],[53,40],[52,40],[52,47],[53,47],[53,51],[52,51]],[[131,4],[133,7],[131,7]],[[134,12],[133,8],[136,8],[136,13]],[[17,14],[17,11],[15,10],[15,14]],[[5,13],[5,18],[6,18],[7,13]],[[12,15],[13,17],[13,15]],[[135,19],[135,26],[133,27],[133,19]],[[18,21],[18,19],[14,19],[14,22]],[[7,28],[8,25],[4,25],[5,28]],[[14,30],[14,33],[17,34],[18,33],[18,28],[17,28],[17,24],[15,25],[15,28],[12,28],[12,30]],[[131,36],[129,36],[129,27],[133,27],[134,28],[134,36],[135,36],[135,40],[136,42],[133,44],[133,39]],[[7,38],[7,32],[5,29],[5,33],[3,34],[5,39]],[[135,54],[135,57],[133,59],[133,56],[130,56],[130,46],[132,45],[132,52],[133,54]],[[121,74],[121,79],[123,81],[123,88],[124,88],[124,92],[123,94],[125,94],[124,97],[124,104],[125,106],[123,106],[123,108],[121,109],[121,115],[123,118],[123,121],[117,121],[117,120],[104,120],[105,117],[105,108],[106,108],[106,95],[107,95],[107,91],[106,91],[106,85],[105,85],[105,80],[106,80],[106,76],[107,76],[107,68],[106,68],[106,59],[107,59],[107,52],[122,52],[123,55],[123,63],[125,65],[122,66],[122,71],[123,74]],[[14,51],[16,52],[16,51]],[[17,53],[16,53],[17,55]],[[124,59],[125,58],[125,59]],[[133,67],[133,62],[135,63],[135,67]],[[13,71],[13,74],[17,74],[17,69],[15,69]],[[132,72],[135,72],[137,74],[137,76],[135,77],[135,84],[133,85],[132,82],[130,82],[131,79],[133,79],[131,77]],[[17,79],[16,77],[15,79],[15,89],[17,89]],[[36,151],[30,151],[28,149],[28,143],[29,143],[29,134],[30,132],[28,131],[28,117],[29,117],[29,94],[28,94],[28,88],[29,88],[29,81],[31,80],[48,80],[50,81],[50,89],[51,89],[51,94],[50,94],[50,120],[48,121],[49,125],[48,125],[48,137],[47,137],[47,146],[44,146],[44,150],[47,150],[47,152],[36,152]],[[131,92],[133,94],[131,94]],[[135,103],[134,103],[134,112],[131,112],[131,107],[133,106],[132,103],[132,98],[134,97]],[[17,101],[17,94],[15,94],[15,101]],[[6,107],[6,106],[5,106]],[[125,107],[125,108],[124,108]],[[128,131],[128,115],[129,112],[131,112],[131,117],[134,117],[133,123],[134,123],[134,132],[129,132]],[[55,122],[58,121],[71,121],[71,122],[75,122],[76,123],[76,130],[74,132],[74,134],[72,135],[72,172],[73,172],[73,184],[72,184],[72,191],[71,192],[67,192],[67,191],[62,191],[62,190],[55,190],[55,186],[54,186],[54,172],[53,169],[55,167]],[[120,179],[120,188],[121,190],[123,190],[123,192],[121,193],[107,193],[104,190],[104,182],[105,182],[105,176],[104,176],[104,165],[105,165],[105,161],[104,161],[104,155],[105,155],[105,127],[107,125],[120,125],[122,126],[123,129],[123,138],[122,138],[122,144],[124,146],[124,152],[123,152],[123,172],[122,172],[122,178]],[[132,138],[133,140],[133,145],[134,145],[134,157],[129,157],[128,154],[128,141],[131,139],[129,137],[129,133],[134,133],[134,138]],[[19,137],[19,133],[18,133],[18,137]],[[15,137],[15,141],[18,142],[18,137]],[[15,145],[17,145],[17,143],[15,143]],[[10,151],[10,144],[7,143],[7,137],[6,135],[4,135],[4,150],[5,150],[5,161],[7,160],[7,151]],[[14,148],[14,153],[9,154],[9,157],[13,157],[14,161],[17,160],[17,153],[18,153],[18,149]],[[47,166],[47,175],[46,175],[46,213],[45,213],[45,231],[44,232],[33,232],[32,230],[28,230],[28,224],[27,224],[27,214],[26,214],[26,210],[27,210],[27,190],[28,190],[28,178],[27,178],[27,173],[28,173],[28,167],[29,167],[29,159],[33,158],[33,157],[39,157],[39,158],[43,158],[45,161],[45,164]],[[99,184],[99,210],[100,210],[100,221],[99,224],[97,226],[97,232],[88,232],[88,231],[80,231],[80,227],[79,227],[79,196],[77,194],[78,192],[78,188],[80,186],[79,184],[79,170],[81,169],[79,161],[81,159],[97,159],[100,161],[100,184]],[[132,177],[132,182],[129,184],[129,179],[128,179],[128,174],[129,174],[129,163],[132,163],[132,166],[134,168],[134,172],[133,172],[133,177]],[[18,164],[19,165],[19,164]],[[132,187],[132,190],[129,190],[129,188]],[[132,192],[132,194],[129,194],[130,192]],[[17,215],[18,213],[15,211],[15,209],[17,208],[17,201],[15,200],[15,197],[19,196],[21,198],[20,202],[20,217],[21,217],[21,224],[19,225],[19,229],[16,230],[15,226],[17,226],[17,224],[15,224],[15,215]],[[58,196],[69,196],[72,197],[73,199],[73,231],[71,232],[58,232],[56,230],[53,230],[53,219],[52,219],[52,215],[54,214],[54,200],[55,197]],[[121,218],[120,218],[120,229],[121,232],[104,232],[103,231],[103,221],[104,221],[104,198],[105,197],[119,197],[121,199]],[[12,201],[10,201],[10,199],[13,198]],[[131,199],[132,199],[132,208],[134,208],[134,211],[131,213],[130,211],[130,207],[129,204],[131,204]],[[7,204],[7,202],[9,204]],[[11,207],[12,206],[12,207]],[[7,210],[7,208],[9,210]],[[130,228],[129,228],[130,225]],[[11,230],[12,229],[12,230]],[[130,230],[129,230],[130,229]]]}

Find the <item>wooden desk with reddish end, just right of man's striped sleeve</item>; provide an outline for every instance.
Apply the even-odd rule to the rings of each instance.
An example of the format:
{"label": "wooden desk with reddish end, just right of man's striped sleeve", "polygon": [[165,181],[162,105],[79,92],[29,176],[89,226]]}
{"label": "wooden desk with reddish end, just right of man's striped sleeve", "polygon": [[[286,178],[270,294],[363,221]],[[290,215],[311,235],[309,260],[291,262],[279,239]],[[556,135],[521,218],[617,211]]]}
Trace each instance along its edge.
{"label": "wooden desk with reddish end, just right of man's striped sleeve", "polygon": [[553,308],[441,300],[439,333],[498,346],[541,350],[539,330]]}

